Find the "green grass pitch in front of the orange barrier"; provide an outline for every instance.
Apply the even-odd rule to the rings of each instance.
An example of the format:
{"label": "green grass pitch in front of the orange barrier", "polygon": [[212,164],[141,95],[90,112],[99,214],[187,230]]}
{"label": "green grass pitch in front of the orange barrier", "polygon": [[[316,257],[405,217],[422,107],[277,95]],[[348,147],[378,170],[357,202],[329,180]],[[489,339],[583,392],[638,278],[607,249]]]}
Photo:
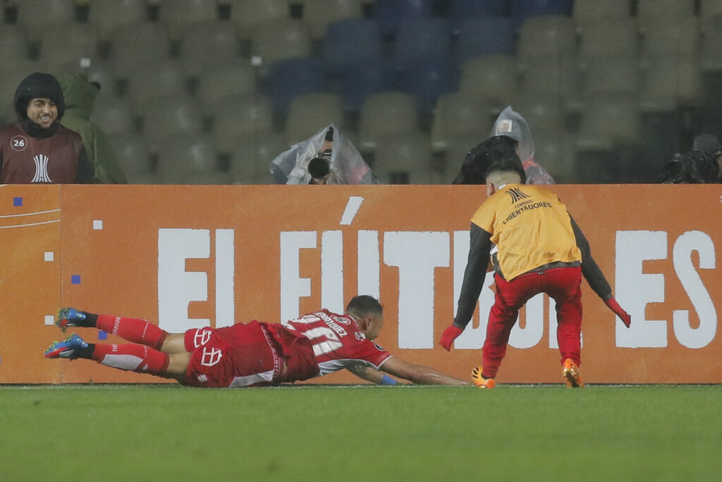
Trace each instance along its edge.
{"label": "green grass pitch in front of the orange barrier", "polygon": [[714,481],[722,387],[0,387],[0,481]]}

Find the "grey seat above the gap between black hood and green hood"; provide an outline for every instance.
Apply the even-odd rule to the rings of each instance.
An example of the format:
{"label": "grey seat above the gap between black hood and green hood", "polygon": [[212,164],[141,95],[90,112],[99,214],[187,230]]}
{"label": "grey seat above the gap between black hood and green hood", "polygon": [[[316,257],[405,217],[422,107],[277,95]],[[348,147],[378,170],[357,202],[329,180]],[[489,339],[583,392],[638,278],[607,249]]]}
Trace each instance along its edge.
{"label": "grey seat above the gap between black hood and green hood", "polygon": [[52,24],[40,33],[39,60],[47,66],[75,65],[78,70],[81,59],[97,56],[97,35],[88,25]]}

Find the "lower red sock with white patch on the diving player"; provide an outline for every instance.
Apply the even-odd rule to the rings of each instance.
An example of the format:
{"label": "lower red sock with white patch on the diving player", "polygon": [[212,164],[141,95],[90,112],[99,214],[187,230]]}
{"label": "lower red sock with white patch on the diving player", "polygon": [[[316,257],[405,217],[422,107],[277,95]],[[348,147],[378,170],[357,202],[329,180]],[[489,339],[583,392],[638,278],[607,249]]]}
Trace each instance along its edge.
{"label": "lower red sock with white patch on the diving player", "polygon": [[165,376],[165,369],[168,369],[170,360],[168,353],[136,343],[95,345],[91,358],[116,369],[160,376]]}

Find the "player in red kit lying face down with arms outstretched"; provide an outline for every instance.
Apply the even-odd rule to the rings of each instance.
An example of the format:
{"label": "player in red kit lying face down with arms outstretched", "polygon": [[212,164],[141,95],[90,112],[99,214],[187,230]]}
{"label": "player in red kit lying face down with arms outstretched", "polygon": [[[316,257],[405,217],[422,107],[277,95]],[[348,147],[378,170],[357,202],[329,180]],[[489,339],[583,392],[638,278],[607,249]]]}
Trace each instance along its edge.
{"label": "player in red kit lying face down with arms outstretched", "polygon": [[393,357],[373,343],[383,326],[383,307],[367,295],[352,298],[346,314],[324,309],[282,324],[253,320],[231,327],[168,333],[144,319],[73,308],[58,311],[56,324],[63,330],[97,328],[132,343],[95,345],[74,334],[45,350],[47,358],[89,358],[191,387],[264,387],[340,369],[376,383],[393,384],[380,370],[418,384],[468,384]]}

